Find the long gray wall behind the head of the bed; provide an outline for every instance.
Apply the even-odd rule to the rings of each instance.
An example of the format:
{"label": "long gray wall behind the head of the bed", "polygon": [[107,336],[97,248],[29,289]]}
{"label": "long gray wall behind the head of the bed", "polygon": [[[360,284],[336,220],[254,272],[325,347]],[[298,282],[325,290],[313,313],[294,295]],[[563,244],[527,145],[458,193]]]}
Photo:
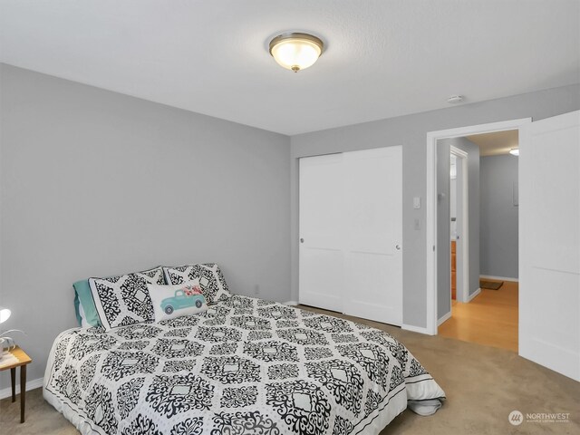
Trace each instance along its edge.
{"label": "long gray wall behind the head of the bed", "polygon": [[288,137],[0,68],[2,330],[28,334],[29,379],[78,279],[215,261],[233,292],[289,298]]}

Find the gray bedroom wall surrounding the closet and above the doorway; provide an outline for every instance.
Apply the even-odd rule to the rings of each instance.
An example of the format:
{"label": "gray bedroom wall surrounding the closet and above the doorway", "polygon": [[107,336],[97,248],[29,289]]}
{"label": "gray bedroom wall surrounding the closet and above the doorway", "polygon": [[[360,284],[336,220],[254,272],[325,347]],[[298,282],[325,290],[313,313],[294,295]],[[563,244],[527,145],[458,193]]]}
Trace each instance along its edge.
{"label": "gray bedroom wall surrounding the closet and above the doorway", "polygon": [[[385,86],[396,83],[385,83]],[[364,104],[364,101],[361,101]],[[487,122],[532,117],[548,118],[580,109],[580,85],[570,85],[513,97],[463,104],[439,111],[426,111],[398,118],[372,121],[291,138],[292,207],[292,298],[298,297],[298,164],[300,157],[332,152],[366,150],[402,145],[403,153],[403,323],[426,326],[426,235],[425,192],[426,136],[428,131]],[[420,209],[412,198],[422,199]],[[419,218],[421,227],[413,228]]]}

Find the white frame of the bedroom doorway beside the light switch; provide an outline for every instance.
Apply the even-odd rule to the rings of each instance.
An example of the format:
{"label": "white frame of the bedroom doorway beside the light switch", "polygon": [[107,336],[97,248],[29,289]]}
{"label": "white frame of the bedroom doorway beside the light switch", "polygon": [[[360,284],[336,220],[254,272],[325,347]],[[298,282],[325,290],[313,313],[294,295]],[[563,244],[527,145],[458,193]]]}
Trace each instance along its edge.
{"label": "white frame of the bedroom doorway beside the light switch", "polygon": [[[490,122],[448,130],[429,131],[427,133],[427,192],[426,203],[426,300],[427,328],[426,333],[437,335],[437,141],[441,139],[460,138],[472,134],[491,133],[494,131],[517,130],[532,121],[531,118],[521,118],[510,121]],[[520,144],[521,145],[521,144]],[[469,288],[468,288],[469,294]]]}

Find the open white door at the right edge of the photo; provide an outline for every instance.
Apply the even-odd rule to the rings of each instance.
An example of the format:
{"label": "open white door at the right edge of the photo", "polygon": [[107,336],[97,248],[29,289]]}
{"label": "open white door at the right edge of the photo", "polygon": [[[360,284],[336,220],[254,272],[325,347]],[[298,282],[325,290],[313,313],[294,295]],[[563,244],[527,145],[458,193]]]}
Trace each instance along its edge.
{"label": "open white door at the right edge of the photo", "polygon": [[520,130],[519,354],[580,381],[580,111]]}

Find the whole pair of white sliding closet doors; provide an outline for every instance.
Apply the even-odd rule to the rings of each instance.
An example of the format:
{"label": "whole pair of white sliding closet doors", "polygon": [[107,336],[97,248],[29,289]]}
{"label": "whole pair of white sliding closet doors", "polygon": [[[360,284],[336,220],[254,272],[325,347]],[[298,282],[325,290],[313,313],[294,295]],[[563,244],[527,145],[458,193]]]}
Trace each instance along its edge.
{"label": "whole pair of white sliding closet doors", "polygon": [[299,300],[402,321],[402,150],[300,160]]}

